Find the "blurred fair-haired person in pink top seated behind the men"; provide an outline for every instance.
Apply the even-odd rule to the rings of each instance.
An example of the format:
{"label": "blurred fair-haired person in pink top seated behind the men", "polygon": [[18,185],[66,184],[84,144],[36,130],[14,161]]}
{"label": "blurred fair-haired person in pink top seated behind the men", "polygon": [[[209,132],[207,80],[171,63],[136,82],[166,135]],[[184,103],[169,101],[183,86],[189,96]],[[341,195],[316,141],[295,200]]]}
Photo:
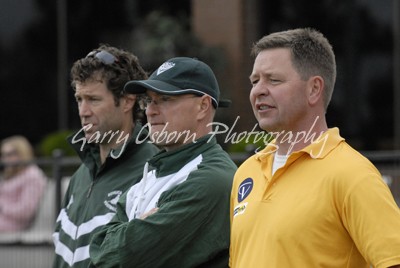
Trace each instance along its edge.
{"label": "blurred fair-haired person in pink top seated behind the men", "polygon": [[12,136],[1,142],[0,232],[27,229],[35,218],[47,178],[33,160],[26,138]]}

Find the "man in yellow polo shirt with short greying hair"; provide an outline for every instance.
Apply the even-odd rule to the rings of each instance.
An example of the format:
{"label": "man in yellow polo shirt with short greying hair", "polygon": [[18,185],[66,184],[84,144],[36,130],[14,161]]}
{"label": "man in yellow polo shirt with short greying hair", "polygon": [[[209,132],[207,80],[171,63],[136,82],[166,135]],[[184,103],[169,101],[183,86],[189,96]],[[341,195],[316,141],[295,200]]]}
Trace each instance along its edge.
{"label": "man in yellow polo shirt with short greying hair", "polygon": [[274,136],[235,174],[232,268],[400,267],[400,210],[379,171],[328,129],[335,56],[317,30],[260,39],[250,102]]}

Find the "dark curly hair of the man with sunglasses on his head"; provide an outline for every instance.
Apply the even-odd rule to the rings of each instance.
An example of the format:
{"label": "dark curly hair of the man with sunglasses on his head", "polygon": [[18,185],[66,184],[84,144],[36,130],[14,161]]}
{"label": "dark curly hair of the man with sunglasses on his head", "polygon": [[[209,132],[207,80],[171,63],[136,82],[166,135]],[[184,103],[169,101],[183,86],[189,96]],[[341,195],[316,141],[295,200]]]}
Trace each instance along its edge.
{"label": "dark curly hair of the man with sunglasses on his head", "polygon": [[[111,62],[105,62],[101,57],[97,57],[102,51],[114,57]],[[100,78],[113,94],[116,106],[119,105],[120,98],[126,94],[124,86],[128,81],[143,80],[148,77],[137,56],[107,44],[101,44],[85,58],[75,61],[70,75],[71,86],[74,90],[77,82],[84,83]],[[133,117],[134,120],[144,120],[144,113],[140,109],[138,99],[133,108]]]}

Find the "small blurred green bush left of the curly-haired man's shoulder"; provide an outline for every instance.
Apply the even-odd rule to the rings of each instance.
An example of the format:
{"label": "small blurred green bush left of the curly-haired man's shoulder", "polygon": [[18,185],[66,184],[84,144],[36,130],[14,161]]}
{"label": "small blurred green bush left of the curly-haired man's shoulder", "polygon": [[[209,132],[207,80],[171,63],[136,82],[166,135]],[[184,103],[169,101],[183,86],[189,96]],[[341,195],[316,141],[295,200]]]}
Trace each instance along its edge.
{"label": "small blurred green bush left of the curly-haired man's shoulder", "polygon": [[53,151],[60,149],[65,156],[76,156],[76,152],[67,142],[67,137],[73,134],[71,130],[56,131],[48,134],[39,144],[38,151],[42,156],[52,156]]}

